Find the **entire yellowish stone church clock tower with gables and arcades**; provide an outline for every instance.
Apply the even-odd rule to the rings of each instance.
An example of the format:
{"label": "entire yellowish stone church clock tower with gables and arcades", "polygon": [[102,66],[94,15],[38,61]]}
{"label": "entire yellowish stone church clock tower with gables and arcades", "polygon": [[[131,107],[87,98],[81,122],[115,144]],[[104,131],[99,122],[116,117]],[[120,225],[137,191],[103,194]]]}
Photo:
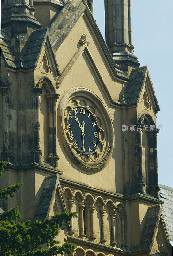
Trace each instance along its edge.
{"label": "entire yellowish stone church clock tower with gables and arcades", "polygon": [[[171,255],[159,198],[148,67],[133,55],[130,0],[2,0],[1,211],[21,221],[77,211],[60,240],[75,256]],[[58,237],[59,239],[59,237]]]}

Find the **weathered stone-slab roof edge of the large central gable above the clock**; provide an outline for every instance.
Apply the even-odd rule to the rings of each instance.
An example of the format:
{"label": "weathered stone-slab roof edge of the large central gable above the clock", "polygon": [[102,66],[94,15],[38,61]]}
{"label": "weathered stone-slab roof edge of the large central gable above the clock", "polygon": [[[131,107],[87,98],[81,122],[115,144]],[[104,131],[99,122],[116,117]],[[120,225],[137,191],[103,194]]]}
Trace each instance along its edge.
{"label": "weathered stone-slab roof edge of the large central gable above the clock", "polygon": [[99,45],[101,46],[102,51],[106,56],[114,76],[129,80],[129,78],[124,75],[124,72],[118,69],[119,65],[115,64],[112,55],[110,54],[109,49],[102,37],[102,34],[94,20],[94,17],[91,14],[86,1],[84,0],[68,0],[68,2],[64,5],[62,10],[51,23],[49,27],[49,34],[52,40],[54,51],[56,52],[64,42],[65,38],[74,27],[83,12],[85,12],[86,18],[88,19],[94,34],[99,41]]}

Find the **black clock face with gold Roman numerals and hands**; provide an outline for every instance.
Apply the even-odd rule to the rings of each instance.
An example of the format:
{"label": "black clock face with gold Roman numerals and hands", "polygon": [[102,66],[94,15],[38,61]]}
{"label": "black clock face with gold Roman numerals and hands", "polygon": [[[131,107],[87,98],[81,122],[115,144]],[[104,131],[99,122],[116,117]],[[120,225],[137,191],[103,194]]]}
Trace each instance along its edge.
{"label": "black clock face with gold Roman numerals and hands", "polygon": [[99,143],[99,128],[93,114],[84,107],[76,107],[69,114],[69,137],[77,150],[92,153]]}

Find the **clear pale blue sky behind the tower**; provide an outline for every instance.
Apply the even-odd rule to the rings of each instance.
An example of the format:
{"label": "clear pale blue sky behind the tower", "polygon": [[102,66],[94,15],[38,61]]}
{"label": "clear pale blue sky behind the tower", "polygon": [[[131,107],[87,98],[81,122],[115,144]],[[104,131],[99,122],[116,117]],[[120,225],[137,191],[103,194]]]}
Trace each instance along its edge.
{"label": "clear pale blue sky behind the tower", "polygon": [[[159,183],[173,187],[173,1],[131,0],[132,44],[140,66],[149,66],[161,108],[157,124]],[[104,0],[94,0],[94,17],[105,38]]]}

